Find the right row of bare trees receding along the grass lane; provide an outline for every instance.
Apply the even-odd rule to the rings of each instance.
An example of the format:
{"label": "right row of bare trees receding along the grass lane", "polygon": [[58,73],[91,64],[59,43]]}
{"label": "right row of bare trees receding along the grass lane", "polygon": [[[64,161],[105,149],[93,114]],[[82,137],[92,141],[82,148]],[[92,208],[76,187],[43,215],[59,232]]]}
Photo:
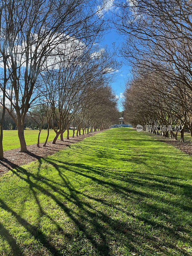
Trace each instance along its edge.
{"label": "right row of bare trees receding along the grass lane", "polygon": [[[115,24],[132,64],[125,117],[133,126],[180,125],[183,141],[185,129],[192,136],[192,2],[137,0],[119,7]],[[170,136],[177,140],[177,133]],[[167,129],[162,135],[169,136]]]}

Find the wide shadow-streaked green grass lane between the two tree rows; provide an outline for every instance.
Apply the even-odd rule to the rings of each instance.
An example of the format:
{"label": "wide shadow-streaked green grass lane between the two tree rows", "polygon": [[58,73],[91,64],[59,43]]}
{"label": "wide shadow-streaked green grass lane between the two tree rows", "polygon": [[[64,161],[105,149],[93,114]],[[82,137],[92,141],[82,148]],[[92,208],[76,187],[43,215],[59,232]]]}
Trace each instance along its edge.
{"label": "wide shadow-streaked green grass lane between the two tree rows", "polygon": [[192,255],[192,161],[114,128],[0,180],[0,255]]}

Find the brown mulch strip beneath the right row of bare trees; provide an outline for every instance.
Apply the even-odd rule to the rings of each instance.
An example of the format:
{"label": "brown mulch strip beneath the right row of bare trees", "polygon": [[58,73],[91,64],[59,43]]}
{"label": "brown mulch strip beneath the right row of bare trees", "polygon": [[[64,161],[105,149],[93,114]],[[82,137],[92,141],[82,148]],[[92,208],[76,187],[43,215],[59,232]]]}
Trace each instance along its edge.
{"label": "brown mulch strip beneath the right row of bare trees", "polygon": [[185,152],[186,154],[192,156],[192,145],[191,145],[190,140],[186,140],[185,142],[180,142],[180,140],[172,140],[170,138],[165,138],[165,137],[162,137],[160,135],[156,135],[156,134],[153,134],[153,133],[150,133],[150,132],[148,132],[148,134],[150,136],[155,137],[157,140],[160,140],[160,141],[165,142],[169,145],[172,145],[173,147],[178,148],[181,151]]}

